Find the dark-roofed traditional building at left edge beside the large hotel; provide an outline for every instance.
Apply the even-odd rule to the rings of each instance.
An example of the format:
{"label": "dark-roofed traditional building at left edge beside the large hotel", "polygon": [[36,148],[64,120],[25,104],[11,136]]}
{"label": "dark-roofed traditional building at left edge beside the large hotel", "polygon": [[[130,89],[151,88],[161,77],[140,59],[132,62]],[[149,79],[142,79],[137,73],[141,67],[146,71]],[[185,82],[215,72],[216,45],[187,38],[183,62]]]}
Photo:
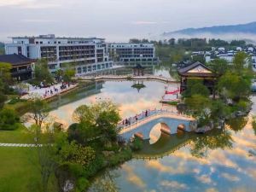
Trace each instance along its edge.
{"label": "dark-roofed traditional building at left edge beside the large hotel", "polygon": [[24,55],[0,55],[1,62],[9,63],[12,68],[10,70],[11,76],[16,81],[24,81],[32,79],[35,61],[27,58]]}

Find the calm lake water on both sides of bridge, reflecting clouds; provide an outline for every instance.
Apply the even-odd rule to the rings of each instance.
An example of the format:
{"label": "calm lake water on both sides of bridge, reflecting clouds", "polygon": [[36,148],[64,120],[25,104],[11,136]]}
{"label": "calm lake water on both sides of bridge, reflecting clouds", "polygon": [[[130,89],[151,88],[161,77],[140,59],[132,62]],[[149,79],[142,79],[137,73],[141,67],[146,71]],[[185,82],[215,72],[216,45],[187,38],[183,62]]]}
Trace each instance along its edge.
{"label": "calm lake water on both sides of bridge, reflecting clouds", "polygon": [[[168,75],[163,71],[154,73]],[[90,88],[53,102],[55,110],[51,115],[70,125],[75,108],[102,99],[118,103],[124,118],[149,108],[167,108],[159,102],[166,84],[143,82],[146,87],[138,91],[131,88],[135,83],[142,82],[92,84]],[[172,88],[177,88],[177,84],[172,84]],[[253,101],[256,102],[256,97]],[[159,130],[154,129],[152,140],[156,142],[158,137]],[[253,192],[256,191],[255,154],[256,137],[250,118],[236,119],[225,131],[203,136],[162,136],[153,145],[144,143],[143,151],[137,155],[147,159],[133,159],[119,168],[103,172],[90,191]]]}

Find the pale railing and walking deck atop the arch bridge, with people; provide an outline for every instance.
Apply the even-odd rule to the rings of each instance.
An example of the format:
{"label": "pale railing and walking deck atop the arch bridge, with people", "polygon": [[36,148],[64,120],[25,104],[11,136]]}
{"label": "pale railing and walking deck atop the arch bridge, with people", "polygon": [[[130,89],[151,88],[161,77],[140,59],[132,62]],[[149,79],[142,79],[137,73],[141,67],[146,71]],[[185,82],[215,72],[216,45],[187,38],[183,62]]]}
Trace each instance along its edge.
{"label": "pale railing and walking deck atop the arch bridge, with people", "polygon": [[137,128],[140,125],[144,125],[148,122],[150,122],[153,119],[157,119],[159,117],[162,117],[164,114],[171,115],[172,118],[185,118],[189,120],[193,120],[194,118],[192,116],[186,115],[186,114],[181,114],[181,113],[176,113],[170,110],[164,110],[164,109],[154,109],[154,110],[148,110],[148,115],[146,116],[145,113],[140,113],[137,115],[140,117],[140,115],[143,115],[140,119],[136,119],[135,117],[133,118],[128,118],[128,124],[126,124],[126,119],[123,119],[122,121],[119,122],[118,128],[121,133],[126,132],[126,131],[131,131],[135,128]]}

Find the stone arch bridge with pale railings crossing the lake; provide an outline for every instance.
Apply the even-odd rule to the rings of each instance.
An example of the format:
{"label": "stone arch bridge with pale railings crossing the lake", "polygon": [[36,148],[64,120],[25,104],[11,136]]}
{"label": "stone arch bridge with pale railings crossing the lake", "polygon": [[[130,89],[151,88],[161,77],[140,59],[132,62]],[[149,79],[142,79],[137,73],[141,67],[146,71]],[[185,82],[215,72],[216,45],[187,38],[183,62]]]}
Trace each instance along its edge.
{"label": "stone arch bridge with pale railings crossing the lake", "polygon": [[132,137],[150,139],[149,134],[154,125],[161,125],[161,131],[169,135],[176,134],[178,130],[194,131],[197,127],[196,120],[190,116],[174,113],[168,110],[149,111],[147,116],[133,120],[129,125],[119,124],[119,136],[125,141]]}

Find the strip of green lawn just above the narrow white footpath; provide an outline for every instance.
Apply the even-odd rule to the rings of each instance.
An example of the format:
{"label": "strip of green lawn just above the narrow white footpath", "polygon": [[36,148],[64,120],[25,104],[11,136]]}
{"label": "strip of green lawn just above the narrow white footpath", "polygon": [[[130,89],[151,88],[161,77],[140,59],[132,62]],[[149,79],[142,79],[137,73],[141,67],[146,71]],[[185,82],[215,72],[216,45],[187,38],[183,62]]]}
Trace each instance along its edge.
{"label": "strip of green lawn just above the narrow white footpath", "polygon": [[0,131],[0,143],[33,143],[32,134],[20,126],[15,131]]}

